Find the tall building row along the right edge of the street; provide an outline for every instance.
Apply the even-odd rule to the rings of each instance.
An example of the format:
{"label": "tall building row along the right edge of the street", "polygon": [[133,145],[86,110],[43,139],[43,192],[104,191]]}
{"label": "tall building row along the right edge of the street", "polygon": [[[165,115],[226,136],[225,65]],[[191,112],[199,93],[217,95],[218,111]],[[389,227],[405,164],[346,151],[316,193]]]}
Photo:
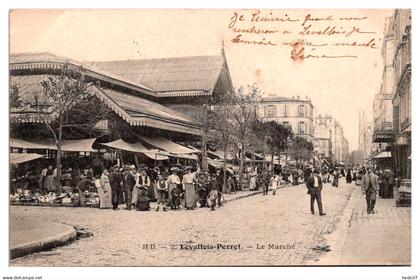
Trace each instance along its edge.
{"label": "tall building row along the right edge of the street", "polygon": [[373,102],[373,154],[411,178],[411,11],[397,9],[386,19],[383,73]]}

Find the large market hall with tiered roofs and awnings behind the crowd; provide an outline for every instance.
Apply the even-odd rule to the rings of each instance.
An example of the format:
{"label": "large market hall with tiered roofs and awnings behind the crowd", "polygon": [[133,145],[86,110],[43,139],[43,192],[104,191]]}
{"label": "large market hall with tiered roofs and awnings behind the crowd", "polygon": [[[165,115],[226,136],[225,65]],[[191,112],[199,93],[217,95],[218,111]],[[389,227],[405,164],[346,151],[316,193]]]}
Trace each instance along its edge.
{"label": "large market hall with tiered roofs and awnings behind the crowd", "polygon": [[[120,64],[109,62],[107,65]],[[12,195],[33,201],[32,196],[23,193],[28,194],[30,189],[32,194],[46,193],[46,190],[41,191],[42,178],[48,177],[43,170],[54,167],[58,148],[33,105],[35,101],[43,102],[46,109],[42,113],[54,120],[54,106],[46,97],[42,83],[59,76],[64,68],[83,75],[86,93],[93,98],[90,110],[99,107],[107,110],[106,117],[98,119],[90,130],[63,127],[62,188],[58,192],[74,190],[76,182],[72,177],[76,169],[77,176],[87,176],[89,172],[115,165],[124,168],[145,164],[151,170],[156,166],[196,167],[202,133],[195,118],[197,107],[217,94],[233,91],[224,53],[137,61],[136,65],[149,74],[137,75],[134,71],[130,77],[120,76],[121,73],[115,74],[118,72],[115,69],[104,70],[106,67],[95,63],[82,64],[50,53],[11,55],[10,85],[17,88],[22,100],[18,106],[10,108]],[[111,74],[109,70],[114,71]],[[140,78],[135,79],[136,75]],[[69,114],[77,112],[74,109],[70,108]],[[59,194],[50,200],[57,196]]]}

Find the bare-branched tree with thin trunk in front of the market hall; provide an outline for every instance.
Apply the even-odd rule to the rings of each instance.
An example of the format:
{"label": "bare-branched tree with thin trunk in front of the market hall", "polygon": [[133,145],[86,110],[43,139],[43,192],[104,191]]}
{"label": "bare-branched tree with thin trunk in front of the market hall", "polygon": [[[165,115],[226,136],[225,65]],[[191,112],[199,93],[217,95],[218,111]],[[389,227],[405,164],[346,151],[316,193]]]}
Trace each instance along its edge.
{"label": "bare-branched tree with thin trunk in front of the market hall", "polygon": [[41,82],[42,94],[34,93],[27,104],[53,136],[56,147],[57,177],[61,176],[63,132],[90,135],[94,126],[104,119],[109,108],[88,91],[83,69],[65,65],[59,75]]}

